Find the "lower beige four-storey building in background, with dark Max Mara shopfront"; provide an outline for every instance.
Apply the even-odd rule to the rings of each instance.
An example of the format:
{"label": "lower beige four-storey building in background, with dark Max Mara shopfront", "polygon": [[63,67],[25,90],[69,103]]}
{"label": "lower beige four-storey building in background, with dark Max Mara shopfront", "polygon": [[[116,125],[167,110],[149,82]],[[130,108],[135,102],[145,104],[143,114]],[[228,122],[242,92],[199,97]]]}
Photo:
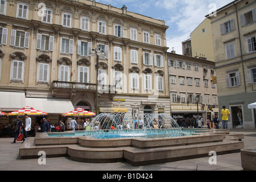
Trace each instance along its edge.
{"label": "lower beige four-storey building in background, with dark Max Mara shopfront", "polygon": [[[214,61],[168,53],[170,104],[173,118],[192,118],[198,114],[203,121],[218,114]],[[198,102],[198,103],[197,103]]]}

